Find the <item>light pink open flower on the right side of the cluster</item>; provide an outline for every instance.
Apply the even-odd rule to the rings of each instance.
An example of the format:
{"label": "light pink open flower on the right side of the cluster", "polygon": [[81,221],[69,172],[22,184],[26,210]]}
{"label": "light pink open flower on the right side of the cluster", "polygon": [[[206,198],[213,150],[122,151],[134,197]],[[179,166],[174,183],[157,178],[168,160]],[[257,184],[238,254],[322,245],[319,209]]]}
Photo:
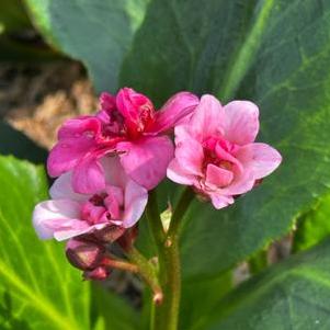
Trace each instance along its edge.
{"label": "light pink open flower on the right side of the cluster", "polygon": [[254,143],[258,132],[255,104],[232,101],[221,106],[204,95],[190,121],[175,127],[175,158],[168,178],[192,185],[216,208],[232,204],[234,196],[250,191],[282,161],[274,148]]}

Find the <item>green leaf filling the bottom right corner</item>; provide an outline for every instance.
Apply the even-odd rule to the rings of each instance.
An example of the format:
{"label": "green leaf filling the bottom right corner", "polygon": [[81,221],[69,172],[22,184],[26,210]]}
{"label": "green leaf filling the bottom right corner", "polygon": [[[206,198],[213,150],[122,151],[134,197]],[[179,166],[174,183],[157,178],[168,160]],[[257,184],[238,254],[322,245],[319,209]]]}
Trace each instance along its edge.
{"label": "green leaf filling the bottom right corner", "polygon": [[327,240],[272,266],[230,293],[191,329],[329,329],[329,255]]}

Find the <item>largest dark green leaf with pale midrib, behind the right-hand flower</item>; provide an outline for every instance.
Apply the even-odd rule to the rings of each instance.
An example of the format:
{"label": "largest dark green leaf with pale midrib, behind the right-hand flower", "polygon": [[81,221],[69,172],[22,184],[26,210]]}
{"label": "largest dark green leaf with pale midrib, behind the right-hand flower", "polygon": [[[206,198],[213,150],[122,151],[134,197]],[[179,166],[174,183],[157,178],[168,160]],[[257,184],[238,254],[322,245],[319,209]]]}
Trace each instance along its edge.
{"label": "largest dark green leaf with pale midrib, behind the right-hand flower", "polygon": [[260,140],[283,155],[280,170],[235,206],[195,203],[182,240],[186,276],[214,276],[251,255],[328,190],[329,29],[330,2],[321,0],[150,4],[122,82],[158,102],[181,89],[252,100]]}

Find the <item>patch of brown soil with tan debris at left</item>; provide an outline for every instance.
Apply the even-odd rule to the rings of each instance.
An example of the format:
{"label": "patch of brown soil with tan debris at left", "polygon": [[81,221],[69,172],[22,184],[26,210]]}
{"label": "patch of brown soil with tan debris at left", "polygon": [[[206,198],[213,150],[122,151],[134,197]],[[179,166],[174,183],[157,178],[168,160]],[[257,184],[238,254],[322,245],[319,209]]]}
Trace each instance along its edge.
{"label": "patch of brown soil with tan debris at left", "polygon": [[65,120],[96,106],[79,62],[0,64],[0,116],[42,147],[54,145]]}

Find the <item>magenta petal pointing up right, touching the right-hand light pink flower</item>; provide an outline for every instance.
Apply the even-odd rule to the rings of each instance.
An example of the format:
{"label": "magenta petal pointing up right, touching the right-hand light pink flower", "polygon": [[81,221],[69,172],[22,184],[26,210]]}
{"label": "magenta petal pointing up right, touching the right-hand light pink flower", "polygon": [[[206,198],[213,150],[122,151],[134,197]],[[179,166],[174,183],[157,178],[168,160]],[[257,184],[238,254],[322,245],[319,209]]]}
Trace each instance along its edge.
{"label": "magenta petal pointing up right, touching the right-hand light pink flower", "polygon": [[175,125],[180,125],[186,116],[192,114],[198,105],[198,98],[189,92],[174,94],[161,110],[156,113],[156,122],[149,132],[157,135]]}

